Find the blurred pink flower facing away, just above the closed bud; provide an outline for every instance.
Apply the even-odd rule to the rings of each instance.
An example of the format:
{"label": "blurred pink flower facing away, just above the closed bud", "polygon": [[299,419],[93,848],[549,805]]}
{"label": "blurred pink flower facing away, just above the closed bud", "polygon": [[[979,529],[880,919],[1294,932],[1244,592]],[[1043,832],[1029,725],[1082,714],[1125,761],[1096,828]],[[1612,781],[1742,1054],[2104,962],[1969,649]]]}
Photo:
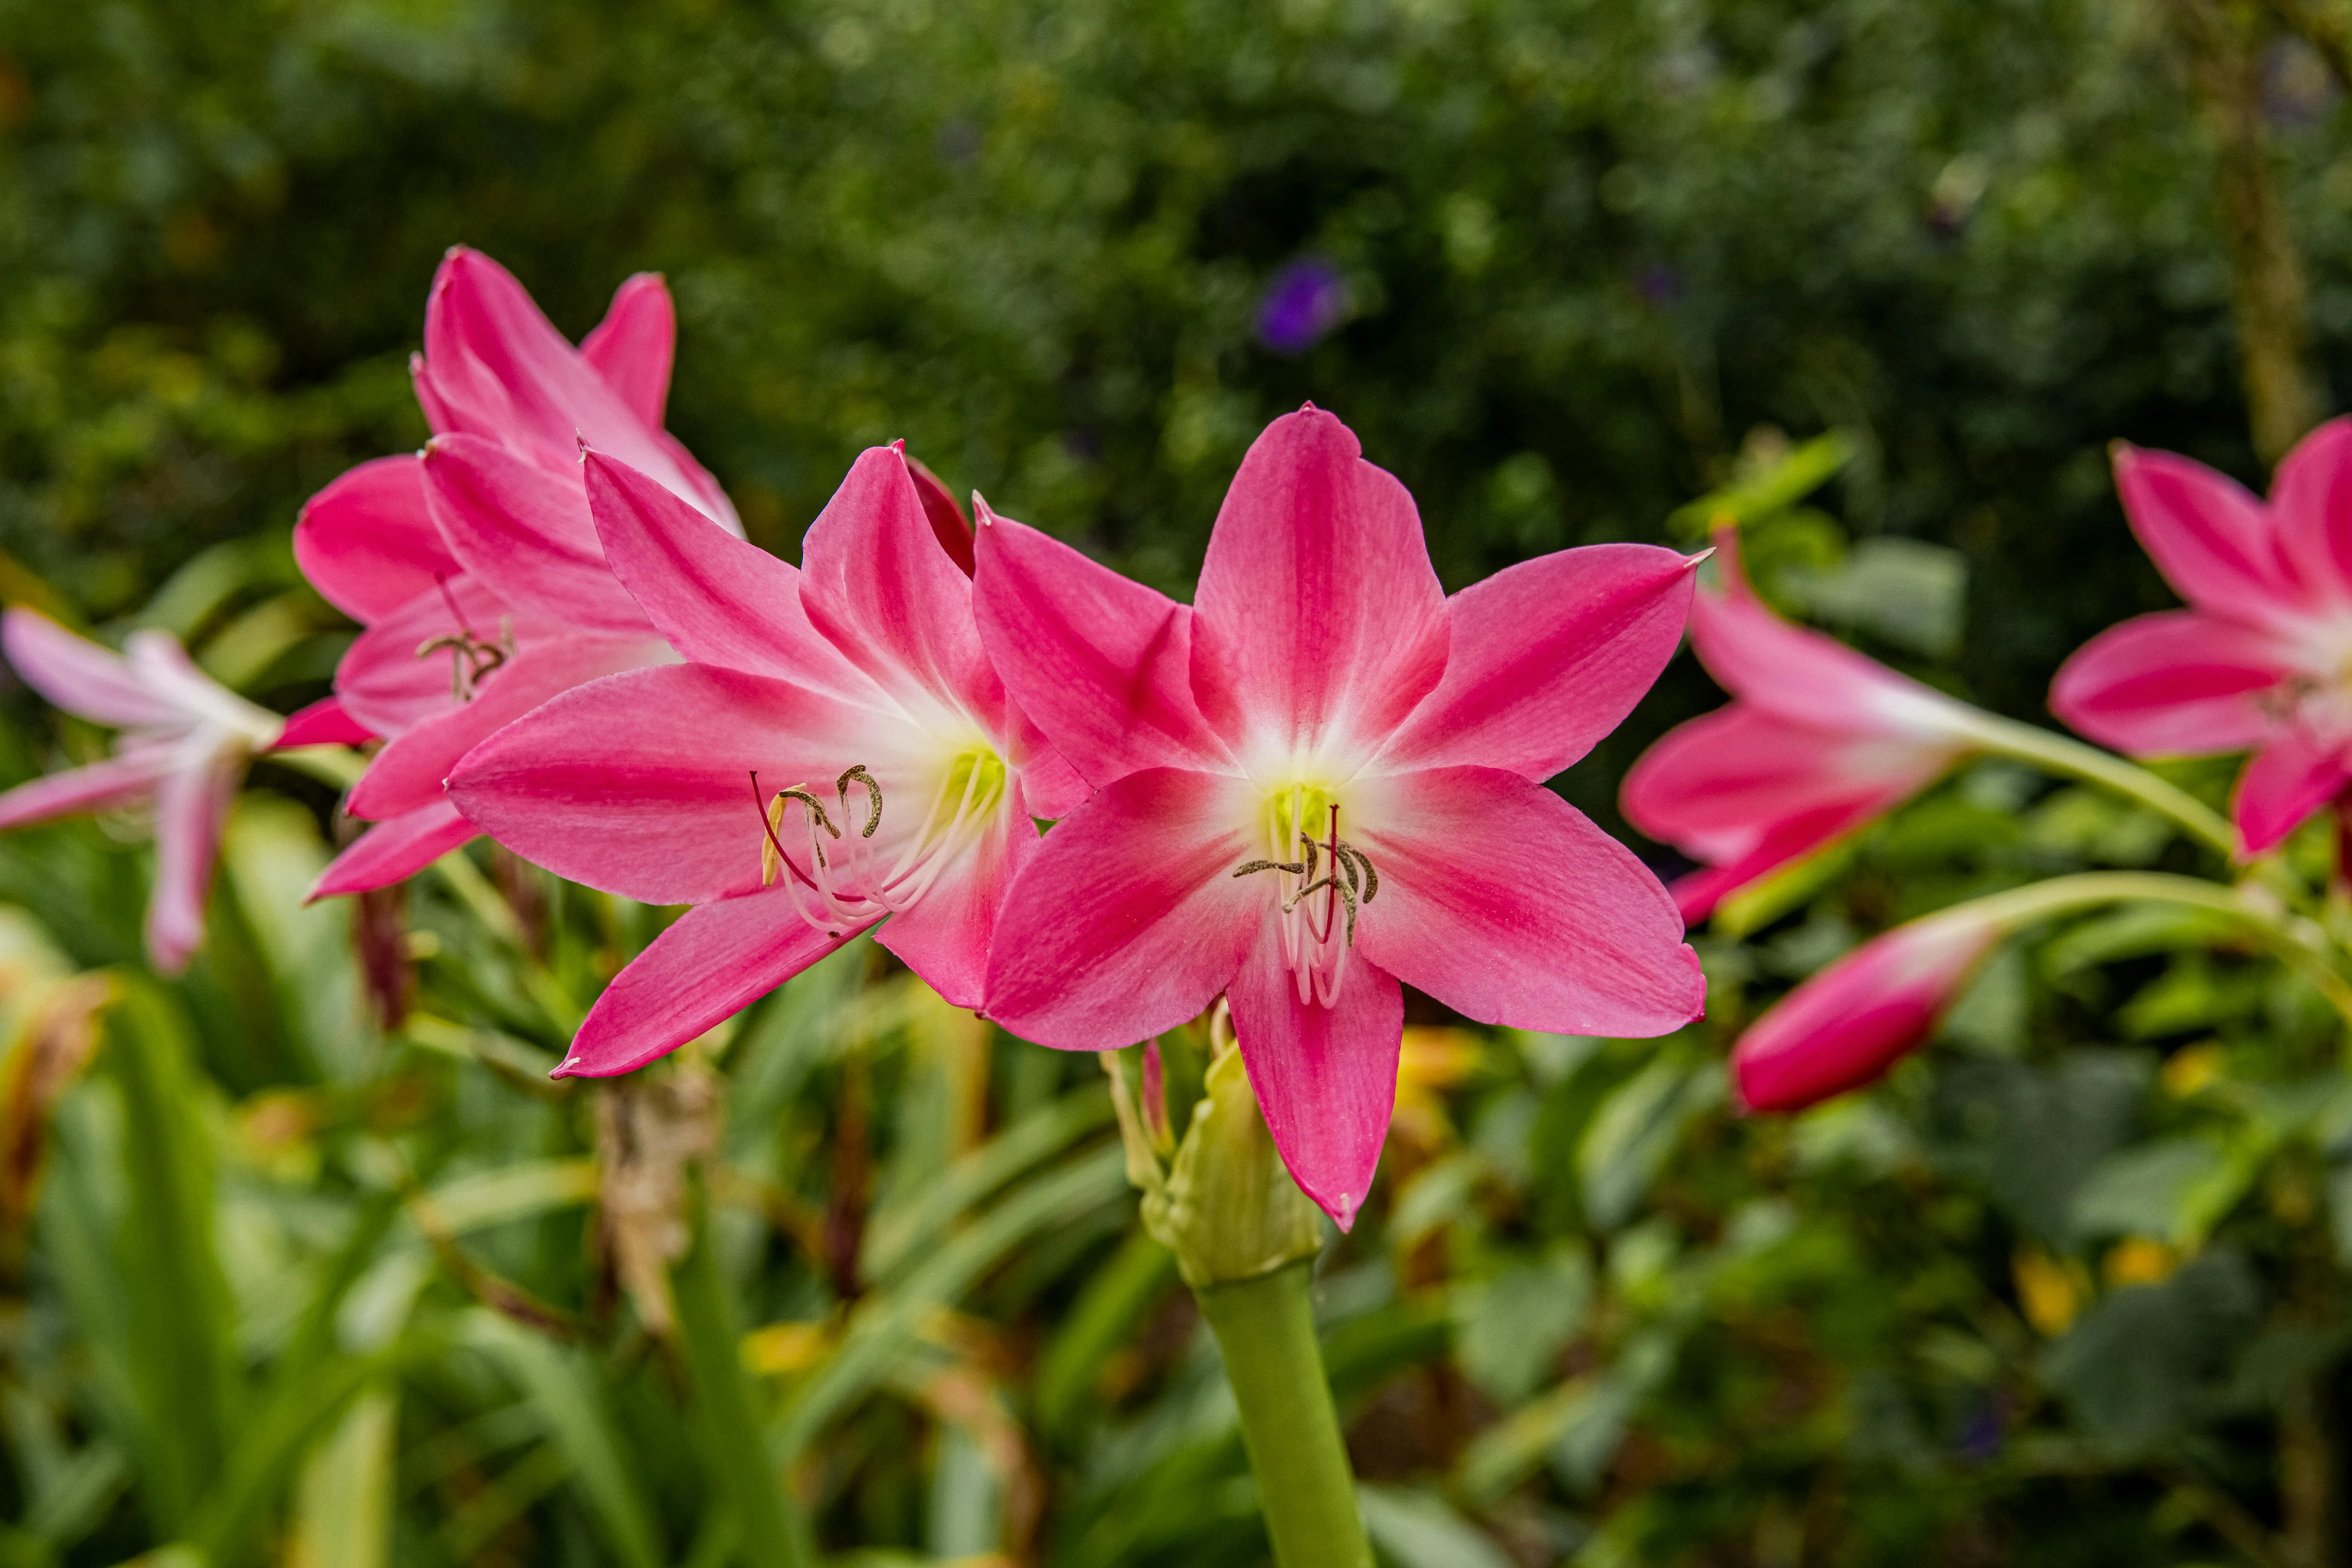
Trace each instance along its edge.
{"label": "blurred pink flower facing away, just above the closed bud", "polygon": [[1971,748],[1976,712],[1835,637],[1780,621],[1715,536],[1722,588],[1691,644],[1733,701],[1679,724],[1625,776],[1625,820],[1705,870],[1675,882],[1684,919],[1893,811]]}

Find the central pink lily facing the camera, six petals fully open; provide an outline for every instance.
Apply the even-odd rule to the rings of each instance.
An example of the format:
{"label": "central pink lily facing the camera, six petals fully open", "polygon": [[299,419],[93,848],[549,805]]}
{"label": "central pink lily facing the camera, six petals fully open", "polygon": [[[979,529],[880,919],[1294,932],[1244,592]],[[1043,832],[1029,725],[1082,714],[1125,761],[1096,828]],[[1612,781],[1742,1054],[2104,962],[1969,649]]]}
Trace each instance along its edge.
{"label": "central pink lily facing the camera, six petals fully open", "polygon": [[1446,599],[1414,498],[1312,404],[1249,449],[1192,607],[983,512],[981,635],[1096,795],[1014,882],[988,1011],[1150,1039],[1218,992],[1284,1164],[1341,1227],[1388,1135],[1402,985],[1663,1034],[1705,983],[1632,851],[1543,780],[1672,656],[1691,564],[1524,562]]}

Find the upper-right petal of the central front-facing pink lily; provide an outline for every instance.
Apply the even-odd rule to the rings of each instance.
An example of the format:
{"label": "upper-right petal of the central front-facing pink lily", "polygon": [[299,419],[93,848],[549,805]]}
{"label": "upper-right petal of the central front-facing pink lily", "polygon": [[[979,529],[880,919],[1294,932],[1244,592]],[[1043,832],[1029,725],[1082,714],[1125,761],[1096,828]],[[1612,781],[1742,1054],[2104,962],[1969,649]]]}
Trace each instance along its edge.
{"label": "upper-right petal of the central front-facing pink lily", "polygon": [[1444,679],[1381,766],[1559,773],[1632,712],[1682,646],[1691,567],[1656,545],[1590,545],[1454,595]]}

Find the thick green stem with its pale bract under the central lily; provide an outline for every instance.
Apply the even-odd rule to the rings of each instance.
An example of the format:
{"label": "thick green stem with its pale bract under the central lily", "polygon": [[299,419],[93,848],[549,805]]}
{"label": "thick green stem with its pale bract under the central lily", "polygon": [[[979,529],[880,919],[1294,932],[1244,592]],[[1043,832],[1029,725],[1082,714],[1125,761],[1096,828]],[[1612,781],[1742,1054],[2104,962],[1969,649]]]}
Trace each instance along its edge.
{"label": "thick green stem with its pale bract under the central lily", "polygon": [[1209,1037],[1207,1093],[1174,1147],[1162,1107],[1141,1107],[1117,1053],[1103,1053],[1127,1175],[1143,1192],[1143,1229],[1176,1253],[1225,1354],[1275,1563],[1371,1568],[1355,1472],[1315,1342],[1322,1215],[1275,1152],[1223,1004]]}

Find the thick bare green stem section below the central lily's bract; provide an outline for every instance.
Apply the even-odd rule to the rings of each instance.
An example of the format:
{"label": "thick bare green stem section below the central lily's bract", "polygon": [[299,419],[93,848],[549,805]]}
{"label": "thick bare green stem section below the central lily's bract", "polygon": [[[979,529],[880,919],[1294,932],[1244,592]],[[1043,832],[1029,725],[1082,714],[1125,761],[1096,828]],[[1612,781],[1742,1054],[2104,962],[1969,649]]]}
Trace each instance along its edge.
{"label": "thick bare green stem section below the central lily's bract", "polygon": [[1315,1345],[1310,1262],[1195,1291],[1225,1352],[1242,1441],[1279,1568],[1371,1568],[1355,1472]]}

